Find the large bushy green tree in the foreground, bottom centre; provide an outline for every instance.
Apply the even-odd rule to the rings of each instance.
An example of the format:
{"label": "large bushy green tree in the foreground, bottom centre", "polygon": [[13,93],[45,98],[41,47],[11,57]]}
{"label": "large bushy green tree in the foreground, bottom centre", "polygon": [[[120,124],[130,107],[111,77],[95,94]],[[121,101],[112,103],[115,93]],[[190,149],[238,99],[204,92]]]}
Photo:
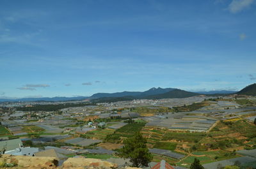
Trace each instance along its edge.
{"label": "large bushy green tree in the foreground, bottom centre", "polygon": [[129,158],[132,166],[148,166],[153,156],[146,143],[147,139],[143,138],[140,132],[136,132],[131,138],[124,140],[124,147],[120,149],[118,155],[121,158]]}

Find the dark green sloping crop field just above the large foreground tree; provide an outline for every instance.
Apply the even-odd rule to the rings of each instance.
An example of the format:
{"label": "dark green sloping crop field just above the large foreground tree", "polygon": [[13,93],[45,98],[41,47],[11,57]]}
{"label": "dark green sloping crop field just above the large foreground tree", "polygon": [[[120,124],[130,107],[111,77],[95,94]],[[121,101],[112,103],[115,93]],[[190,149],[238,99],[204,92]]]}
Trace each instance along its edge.
{"label": "dark green sloping crop field just above the large foreground tree", "polygon": [[105,142],[120,143],[125,138],[131,137],[136,131],[141,131],[145,126],[145,122],[134,122],[126,124],[122,128],[116,129],[116,131],[105,138]]}

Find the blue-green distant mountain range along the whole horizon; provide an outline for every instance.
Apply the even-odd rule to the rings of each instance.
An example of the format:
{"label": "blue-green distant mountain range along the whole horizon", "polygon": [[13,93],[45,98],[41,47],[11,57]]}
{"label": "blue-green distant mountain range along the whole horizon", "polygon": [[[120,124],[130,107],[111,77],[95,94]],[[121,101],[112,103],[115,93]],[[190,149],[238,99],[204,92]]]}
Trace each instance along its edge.
{"label": "blue-green distant mountain range along the whole horizon", "polygon": [[189,92],[183,91],[175,88],[161,88],[153,87],[148,91],[144,92],[114,92],[114,93],[96,93],[90,97],[79,96],[79,97],[54,97],[54,98],[20,98],[20,99],[0,99],[0,102],[4,101],[74,101],[82,99],[90,99],[93,102],[113,102],[113,101],[125,101],[132,99],[163,99],[163,98],[188,98],[191,96],[198,96],[200,94],[205,94],[209,96],[225,96],[228,94],[241,94],[248,96],[256,96],[256,84],[248,85],[239,92],[236,91],[199,91],[199,92]]}

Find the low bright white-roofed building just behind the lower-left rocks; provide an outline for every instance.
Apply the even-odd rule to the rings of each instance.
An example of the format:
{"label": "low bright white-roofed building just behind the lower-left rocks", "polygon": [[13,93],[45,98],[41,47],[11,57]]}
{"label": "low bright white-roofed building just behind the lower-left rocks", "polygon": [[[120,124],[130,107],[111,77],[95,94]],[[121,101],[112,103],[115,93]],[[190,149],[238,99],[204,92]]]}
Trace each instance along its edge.
{"label": "low bright white-roofed building just behind the lower-left rocks", "polygon": [[20,147],[12,151],[6,151],[4,154],[12,154],[13,156],[33,156],[33,154],[38,151],[38,148],[35,147]]}

